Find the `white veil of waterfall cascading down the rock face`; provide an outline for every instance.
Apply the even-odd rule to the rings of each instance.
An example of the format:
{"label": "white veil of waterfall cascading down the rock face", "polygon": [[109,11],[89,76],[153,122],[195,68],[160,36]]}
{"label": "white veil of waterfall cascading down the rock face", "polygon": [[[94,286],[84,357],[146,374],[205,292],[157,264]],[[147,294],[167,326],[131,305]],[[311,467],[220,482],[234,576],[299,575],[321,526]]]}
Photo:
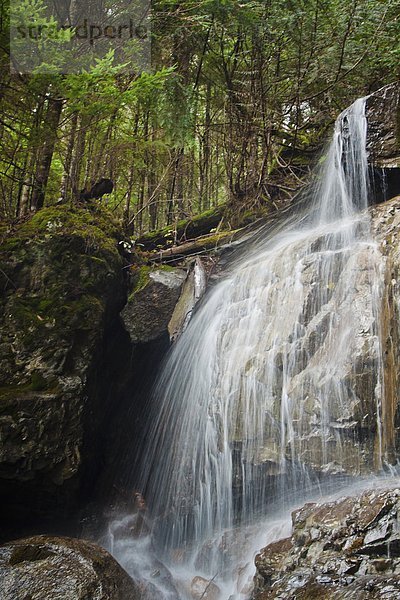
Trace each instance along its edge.
{"label": "white veil of waterfall cascading down the rock face", "polygon": [[[382,257],[363,210],[366,129],[361,99],[337,120],[307,203],[231,264],[154,390],[140,482],[154,546],[169,566],[179,556],[182,571],[215,577],[223,600],[246,597],[227,546],[243,558],[257,519],[290,505],[294,491],[301,499],[317,482],[382,467]],[[363,444],[364,429],[374,444]],[[265,545],[263,532],[253,547]]]}

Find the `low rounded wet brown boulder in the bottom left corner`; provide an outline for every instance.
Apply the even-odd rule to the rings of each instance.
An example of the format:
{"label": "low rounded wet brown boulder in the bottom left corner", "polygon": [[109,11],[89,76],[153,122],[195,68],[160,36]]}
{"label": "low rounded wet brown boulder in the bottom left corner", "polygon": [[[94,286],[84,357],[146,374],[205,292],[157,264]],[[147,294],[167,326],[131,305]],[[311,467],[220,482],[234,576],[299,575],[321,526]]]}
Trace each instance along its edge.
{"label": "low rounded wet brown boulder in the bottom left corner", "polygon": [[84,540],[36,536],[0,546],[2,600],[139,600],[112,556]]}

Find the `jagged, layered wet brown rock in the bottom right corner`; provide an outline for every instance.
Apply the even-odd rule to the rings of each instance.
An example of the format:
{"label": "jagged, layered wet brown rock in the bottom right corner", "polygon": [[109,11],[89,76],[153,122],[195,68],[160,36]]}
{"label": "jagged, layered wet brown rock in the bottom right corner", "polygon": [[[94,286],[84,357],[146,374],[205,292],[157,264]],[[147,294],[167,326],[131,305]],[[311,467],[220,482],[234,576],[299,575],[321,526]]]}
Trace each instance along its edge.
{"label": "jagged, layered wet brown rock in the bottom right corner", "polygon": [[256,557],[253,600],[400,597],[400,490],[306,504]]}

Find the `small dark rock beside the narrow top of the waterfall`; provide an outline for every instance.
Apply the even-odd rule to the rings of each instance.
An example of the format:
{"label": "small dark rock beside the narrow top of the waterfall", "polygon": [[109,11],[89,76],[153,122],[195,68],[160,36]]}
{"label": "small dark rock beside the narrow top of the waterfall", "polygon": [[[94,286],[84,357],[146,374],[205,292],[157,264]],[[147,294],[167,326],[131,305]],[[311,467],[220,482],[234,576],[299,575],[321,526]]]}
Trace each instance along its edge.
{"label": "small dark rock beside the narrow top of the waterfall", "polygon": [[400,167],[400,85],[394,83],[371,94],[366,115],[371,164],[381,168]]}

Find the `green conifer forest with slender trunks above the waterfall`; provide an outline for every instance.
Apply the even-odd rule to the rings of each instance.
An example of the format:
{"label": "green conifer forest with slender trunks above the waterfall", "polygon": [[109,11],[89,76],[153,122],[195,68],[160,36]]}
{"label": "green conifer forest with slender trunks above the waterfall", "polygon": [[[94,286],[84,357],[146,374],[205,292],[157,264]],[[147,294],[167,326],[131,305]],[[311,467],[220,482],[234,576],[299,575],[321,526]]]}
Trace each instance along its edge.
{"label": "green conifer forest with slender trunks above the waterfall", "polygon": [[[79,48],[64,50],[83,7],[101,22],[123,2],[11,7],[1,19],[6,222],[79,203],[105,178],[102,201],[131,237],[219,206],[233,227],[284,206],[322,160],[335,116],[399,76],[399,0],[154,0],[144,68],[129,43],[85,68]],[[37,40],[44,60],[20,68],[16,23],[64,36]]]}

